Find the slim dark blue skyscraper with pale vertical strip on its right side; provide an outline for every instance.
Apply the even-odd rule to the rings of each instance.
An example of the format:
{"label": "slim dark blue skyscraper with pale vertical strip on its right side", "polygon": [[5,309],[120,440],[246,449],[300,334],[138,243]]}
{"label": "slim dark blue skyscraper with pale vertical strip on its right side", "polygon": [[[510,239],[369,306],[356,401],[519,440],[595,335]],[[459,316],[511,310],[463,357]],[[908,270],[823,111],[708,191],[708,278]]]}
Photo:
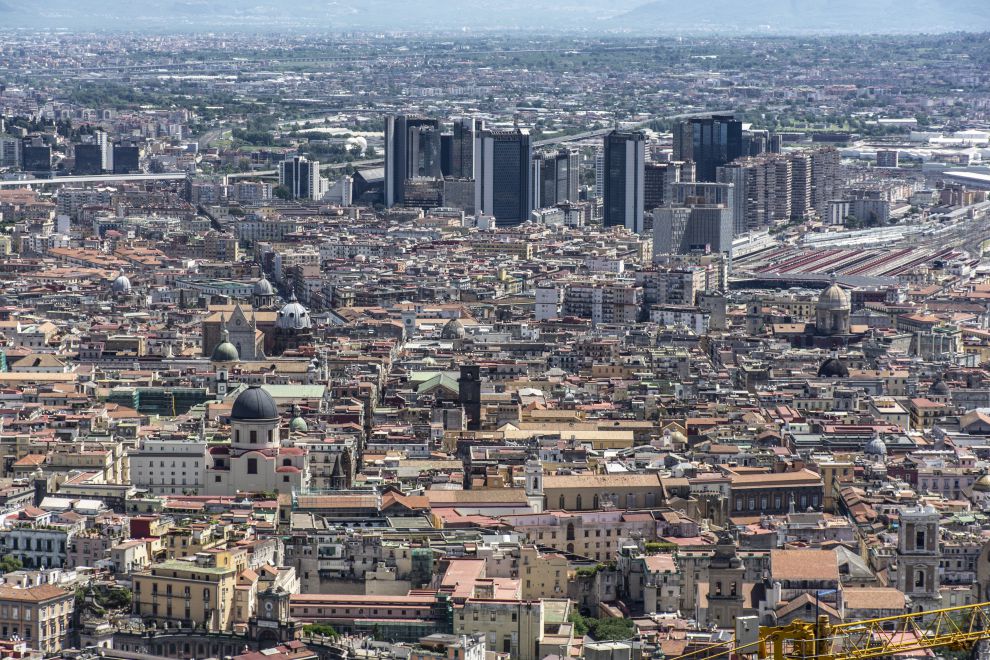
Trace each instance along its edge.
{"label": "slim dark blue skyscraper with pale vertical strip on its right side", "polygon": [[612,131],[605,136],[603,178],[606,227],[624,226],[643,231],[643,194],[646,136],[640,132]]}

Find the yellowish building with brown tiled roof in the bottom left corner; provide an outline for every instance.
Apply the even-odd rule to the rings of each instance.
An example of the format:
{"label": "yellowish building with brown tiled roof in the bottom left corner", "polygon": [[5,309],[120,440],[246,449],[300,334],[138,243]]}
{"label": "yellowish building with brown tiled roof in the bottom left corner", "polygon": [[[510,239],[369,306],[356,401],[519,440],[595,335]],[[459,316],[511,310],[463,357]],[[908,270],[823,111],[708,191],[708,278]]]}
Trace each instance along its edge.
{"label": "yellowish building with brown tiled roof in the bottom left corner", "polygon": [[45,655],[62,650],[75,596],[52,584],[22,589],[0,585],[0,636],[20,637]]}

